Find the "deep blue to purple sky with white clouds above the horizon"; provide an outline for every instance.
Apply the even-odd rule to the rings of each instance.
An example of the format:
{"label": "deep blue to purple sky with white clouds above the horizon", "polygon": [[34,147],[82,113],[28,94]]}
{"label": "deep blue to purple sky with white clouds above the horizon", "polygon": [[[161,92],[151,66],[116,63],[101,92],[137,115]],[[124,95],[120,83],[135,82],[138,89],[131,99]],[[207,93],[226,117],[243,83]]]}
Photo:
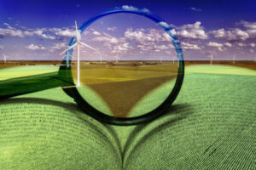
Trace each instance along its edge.
{"label": "deep blue to purple sky with white clouds above the horizon", "polygon": [[[147,8],[175,29],[187,60],[256,59],[256,2],[237,1],[0,1],[0,59],[57,59],[91,15],[113,7]],[[131,15],[97,20],[82,41],[101,54],[82,48],[84,59],[171,59],[172,40],[152,21]],[[74,53],[75,54],[75,53]]]}

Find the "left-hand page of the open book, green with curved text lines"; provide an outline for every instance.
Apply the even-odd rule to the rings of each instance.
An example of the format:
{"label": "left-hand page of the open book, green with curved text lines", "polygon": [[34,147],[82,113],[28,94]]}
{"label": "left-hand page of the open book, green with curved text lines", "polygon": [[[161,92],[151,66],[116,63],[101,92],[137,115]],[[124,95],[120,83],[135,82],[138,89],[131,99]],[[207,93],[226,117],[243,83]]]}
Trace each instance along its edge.
{"label": "left-hand page of the open book, green with curved text lines", "polygon": [[61,88],[2,100],[0,115],[1,169],[121,168],[112,133]]}

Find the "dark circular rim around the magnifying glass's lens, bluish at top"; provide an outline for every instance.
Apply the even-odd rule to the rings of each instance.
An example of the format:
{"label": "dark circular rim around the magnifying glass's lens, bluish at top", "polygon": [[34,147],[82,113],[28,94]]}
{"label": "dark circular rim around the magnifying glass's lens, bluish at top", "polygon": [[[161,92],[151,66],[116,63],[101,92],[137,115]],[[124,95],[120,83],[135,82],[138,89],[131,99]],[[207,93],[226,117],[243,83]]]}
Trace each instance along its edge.
{"label": "dark circular rim around the magnifying glass's lens, bluish at top", "polygon": [[[117,13],[131,13],[131,14],[139,14],[147,17],[150,20],[153,20],[156,23],[163,23],[164,20],[161,20],[160,17],[158,17],[155,14],[152,14],[148,11],[148,9],[145,8],[131,8],[127,9],[123,7],[116,7],[108,9],[107,11],[103,11],[100,14],[96,14],[90,20],[87,20],[84,22],[84,24],[79,28],[81,32],[83,32],[90,24],[92,24],[94,21],[96,21],[99,18],[102,18],[103,16],[106,16],[108,14],[117,14]],[[165,22],[166,23],[166,22]],[[160,25],[161,26],[161,25]],[[177,58],[178,58],[178,71],[177,71],[177,79],[174,85],[174,88],[172,88],[171,94],[166,98],[166,100],[157,108],[155,108],[153,111],[150,111],[142,116],[135,116],[135,117],[114,117],[114,116],[108,116],[101,111],[96,110],[93,106],[91,106],[86,100],[82,98],[82,96],[79,94],[79,91],[77,88],[62,88],[66,94],[68,94],[70,97],[73,97],[73,99],[77,102],[79,107],[85,112],[85,114],[92,116],[99,122],[108,123],[112,125],[119,125],[119,126],[130,126],[130,125],[137,125],[141,123],[147,123],[151,122],[157,117],[163,115],[165,111],[167,111],[174,100],[177,98],[177,94],[179,93],[182,84],[183,84],[183,77],[184,77],[184,59],[183,59],[183,52],[180,46],[180,42],[177,39],[175,35],[171,33],[172,27],[170,26],[161,26],[166,33],[172,37],[172,43],[174,47],[176,48]],[[69,42],[69,46],[72,46],[76,42],[76,38],[73,37],[71,41]],[[72,54],[73,49],[70,50]],[[71,58],[63,59],[62,65],[60,67],[61,77],[69,77],[70,81],[72,80],[72,73],[71,73],[71,66],[67,65],[67,60],[70,62]]]}

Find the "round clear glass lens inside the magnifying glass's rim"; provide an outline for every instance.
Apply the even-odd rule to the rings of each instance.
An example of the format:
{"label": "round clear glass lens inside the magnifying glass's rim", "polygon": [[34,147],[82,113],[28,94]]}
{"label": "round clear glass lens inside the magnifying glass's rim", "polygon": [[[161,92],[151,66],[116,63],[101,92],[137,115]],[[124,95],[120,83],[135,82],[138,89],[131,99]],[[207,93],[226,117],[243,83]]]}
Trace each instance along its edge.
{"label": "round clear glass lens inside the magnifying glass's rim", "polygon": [[172,92],[177,54],[172,38],[154,21],[138,14],[110,14],[81,32],[80,42],[84,44],[72,54],[73,79],[96,110],[142,116]]}

